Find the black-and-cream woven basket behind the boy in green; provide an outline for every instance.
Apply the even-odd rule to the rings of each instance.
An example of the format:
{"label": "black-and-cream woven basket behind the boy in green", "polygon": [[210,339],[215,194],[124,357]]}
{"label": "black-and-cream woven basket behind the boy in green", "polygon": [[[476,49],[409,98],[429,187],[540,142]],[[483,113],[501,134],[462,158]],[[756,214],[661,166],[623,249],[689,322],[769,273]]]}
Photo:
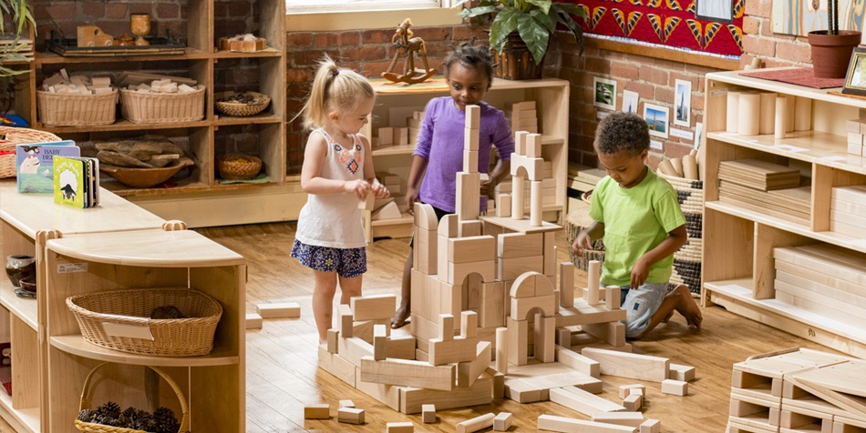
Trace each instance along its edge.
{"label": "black-and-cream woven basket behind the boy in green", "polygon": [[676,190],[676,201],[686,217],[686,245],[674,253],[671,283],[685,284],[694,296],[701,294],[701,263],[703,261],[702,229],[704,227],[704,183],[683,177],[658,173]]}

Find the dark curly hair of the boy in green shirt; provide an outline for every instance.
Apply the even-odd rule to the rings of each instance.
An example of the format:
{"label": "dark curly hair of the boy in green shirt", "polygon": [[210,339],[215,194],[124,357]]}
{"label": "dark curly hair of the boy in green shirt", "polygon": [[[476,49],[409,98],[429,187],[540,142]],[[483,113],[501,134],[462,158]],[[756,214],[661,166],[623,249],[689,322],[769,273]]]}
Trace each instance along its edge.
{"label": "dark curly hair of the boy in green shirt", "polygon": [[613,112],[598,124],[593,146],[600,154],[625,150],[631,156],[638,156],[649,149],[649,126],[640,116]]}

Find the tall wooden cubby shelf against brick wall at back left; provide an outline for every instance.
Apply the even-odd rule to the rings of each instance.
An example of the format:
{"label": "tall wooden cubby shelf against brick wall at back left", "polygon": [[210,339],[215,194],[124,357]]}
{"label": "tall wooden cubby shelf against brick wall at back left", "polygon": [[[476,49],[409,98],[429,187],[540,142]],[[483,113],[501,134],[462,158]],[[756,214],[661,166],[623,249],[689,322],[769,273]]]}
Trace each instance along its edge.
{"label": "tall wooden cubby shelf against brick wall at back left", "polygon": [[[191,175],[170,188],[131,188],[103,176],[103,186],[119,196],[166,219],[180,219],[190,227],[249,224],[296,219],[306,196],[297,182],[286,176],[285,151],[285,2],[256,0],[252,7],[257,36],[267,39],[268,48],[255,53],[219,51],[217,41],[223,35],[215,25],[213,0],[190,0],[186,5],[185,28],[180,29],[188,47],[182,55],[141,55],[110,57],[64,57],[50,52],[36,52],[29,71],[18,80],[15,113],[24,116],[36,129],[46,130],[77,141],[116,140],[152,132],[187,141],[189,156],[195,162]],[[247,2],[243,2],[247,3]],[[39,18],[38,16],[36,17]],[[251,117],[220,116],[213,106],[214,92],[222,91],[217,71],[224,65],[253,63],[258,69],[259,88],[271,96],[271,106],[261,115]],[[204,118],[196,122],[168,124],[134,124],[118,117],[108,126],[45,126],[37,118],[36,89],[46,76],[60,68],[93,74],[100,65],[117,67],[128,63],[131,70],[153,72],[154,68],[176,68],[176,76],[188,76],[207,87]],[[24,67],[24,66],[21,66]],[[222,185],[218,179],[215,143],[231,135],[240,126],[251,127],[258,138],[256,155],[262,158],[269,183]],[[232,130],[234,128],[234,131]],[[187,170],[187,169],[185,169]],[[218,224],[212,215],[220,214]]]}

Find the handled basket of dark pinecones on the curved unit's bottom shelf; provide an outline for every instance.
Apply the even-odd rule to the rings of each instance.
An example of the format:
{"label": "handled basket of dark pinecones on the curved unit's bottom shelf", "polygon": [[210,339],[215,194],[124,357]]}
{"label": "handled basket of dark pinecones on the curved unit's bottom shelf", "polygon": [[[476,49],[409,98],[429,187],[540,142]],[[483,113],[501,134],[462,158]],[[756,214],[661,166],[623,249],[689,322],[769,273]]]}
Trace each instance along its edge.
{"label": "handled basket of dark pinecones on the curved unit's bottom shelf", "polygon": [[86,433],[188,433],[190,431],[190,409],[186,398],[183,397],[183,391],[174,379],[157,367],[147,366],[165,379],[180,399],[180,410],[183,411],[180,421],[175,418],[170,408],[158,408],[152,414],[132,407],[121,411],[119,404],[108,401],[98,408],[91,409],[90,399],[93,398],[93,389],[90,388],[90,382],[97,370],[106,364],[108,362],[103,362],[90,370],[88,378],[84,380],[78,417],[75,419],[75,427],[78,430]]}

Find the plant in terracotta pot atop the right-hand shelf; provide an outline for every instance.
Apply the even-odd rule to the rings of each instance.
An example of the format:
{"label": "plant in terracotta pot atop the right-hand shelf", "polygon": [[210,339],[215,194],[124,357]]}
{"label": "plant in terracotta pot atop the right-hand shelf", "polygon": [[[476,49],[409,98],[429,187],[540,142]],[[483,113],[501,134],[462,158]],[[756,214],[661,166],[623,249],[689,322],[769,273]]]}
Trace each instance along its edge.
{"label": "plant in terracotta pot atop the right-hand shelf", "polygon": [[[817,10],[820,0],[812,0]],[[812,65],[818,78],[844,78],[861,32],[839,29],[839,0],[827,1],[827,30],[809,32]]]}

